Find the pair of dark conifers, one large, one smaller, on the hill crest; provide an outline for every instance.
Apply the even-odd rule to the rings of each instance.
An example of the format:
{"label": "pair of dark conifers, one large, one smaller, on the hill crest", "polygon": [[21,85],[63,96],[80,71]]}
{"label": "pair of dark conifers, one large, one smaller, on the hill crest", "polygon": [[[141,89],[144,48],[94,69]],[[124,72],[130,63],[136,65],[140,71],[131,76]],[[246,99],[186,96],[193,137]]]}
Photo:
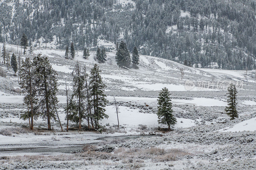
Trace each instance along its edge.
{"label": "pair of dark conifers, one large, one smaller, on the hill crest", "polygon": [[131,62],[133,68],[138,68],[140,56],[138,54],[138,49],[135,46],[132,50],[132,59],[130,57],[130,52],[127,48],[127,45],[124,41],[121,41],[120,44],[116,44],[116,63],[119,67],[130,68]]}

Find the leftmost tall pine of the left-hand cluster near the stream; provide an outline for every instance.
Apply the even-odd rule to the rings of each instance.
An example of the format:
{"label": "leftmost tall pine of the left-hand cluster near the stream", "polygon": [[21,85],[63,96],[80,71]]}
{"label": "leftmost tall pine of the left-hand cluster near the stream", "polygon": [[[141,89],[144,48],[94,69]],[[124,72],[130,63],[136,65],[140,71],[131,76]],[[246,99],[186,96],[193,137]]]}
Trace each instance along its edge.
{"label": "leftmost tall pine of the left-hand cluster near the stream", "polygon": [[[35,67],[33,63],[26,58],[25,61],[22,61],[22,66],[20,68],[20,85],[22,92],[25,94],[24,103],[28,106],[28,114],[23,115],[23,119],[31,118],[30,129],[34,128],[34,116],[35,114],[35,105],[37,104],[36,99],[36,86],[35,86]],[[30,120],[29,120],[30,122]]]}

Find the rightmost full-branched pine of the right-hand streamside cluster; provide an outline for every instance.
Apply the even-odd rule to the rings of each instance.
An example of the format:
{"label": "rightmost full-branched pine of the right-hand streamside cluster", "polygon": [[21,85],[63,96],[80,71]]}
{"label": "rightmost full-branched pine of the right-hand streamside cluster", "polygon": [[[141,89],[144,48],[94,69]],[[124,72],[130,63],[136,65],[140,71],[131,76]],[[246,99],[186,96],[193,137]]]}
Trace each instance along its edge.
{"label": "rightmost full-branched pine of the right-hand streamside cluster", "polygon": [[99,70],[99,66],[94,64],[91,74],[90,74],[90,93],[92,95],[92,107],[93,107],[93,118],[95,121],[95,128],[99,129],[100,124],[99,120],[108,118],[108,115],[105,114],[106,109],[104,108],[107,104],[106,94],[104,94],[104,89],[106,85],[103,83],[101,76],[101,70]]}

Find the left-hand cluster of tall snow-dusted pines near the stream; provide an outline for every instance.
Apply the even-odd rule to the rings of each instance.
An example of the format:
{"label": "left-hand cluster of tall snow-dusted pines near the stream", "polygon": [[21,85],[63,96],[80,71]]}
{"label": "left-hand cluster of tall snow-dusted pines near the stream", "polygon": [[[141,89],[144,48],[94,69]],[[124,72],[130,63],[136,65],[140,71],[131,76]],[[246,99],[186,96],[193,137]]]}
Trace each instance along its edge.
{"label": "left-hand cluster of tall snow-dusted pines near the stream", "polygon": [[20,85],[28,113],[21,115],[21,118],[29,119],[30,129],[33,129],[33,122],[38,117],[47,120],[48,130],[51,130],[51,120],[56,121],[58,117],[57,76],[48,58],[42,57],[41,54],[36,55],[33,61],[28,57],[22,61]]}

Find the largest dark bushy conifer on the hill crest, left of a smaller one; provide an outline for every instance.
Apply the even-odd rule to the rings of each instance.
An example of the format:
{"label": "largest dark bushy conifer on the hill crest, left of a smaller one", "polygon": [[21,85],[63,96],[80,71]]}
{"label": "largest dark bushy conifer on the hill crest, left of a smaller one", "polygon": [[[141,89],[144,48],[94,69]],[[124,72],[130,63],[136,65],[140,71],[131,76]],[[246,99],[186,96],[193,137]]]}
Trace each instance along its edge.
{"label": "largest dark bushy conifer on the hill crest, left of a smaller one", "polygon": [[121,41],[121,43],[118,45],[118,49],[116,51],[116,63],[121,68],[130,67],[130,64],[131,64],[130,52],[124,41]]}

